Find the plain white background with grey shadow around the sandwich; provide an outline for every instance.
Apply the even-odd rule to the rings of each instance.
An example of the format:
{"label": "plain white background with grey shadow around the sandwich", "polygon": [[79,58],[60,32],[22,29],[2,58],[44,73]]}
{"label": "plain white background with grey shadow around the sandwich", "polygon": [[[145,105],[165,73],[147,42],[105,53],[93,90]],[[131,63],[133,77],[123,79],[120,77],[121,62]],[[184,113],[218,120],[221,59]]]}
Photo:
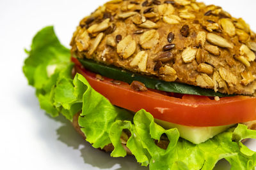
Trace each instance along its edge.
{"label": "plain white background with grey shadow around the sandwich", "polygon": [[[22,74],[31,39],[46,25],[68,46],[79,20],[105,0],[0,0],[0,169],[148,169],[132,157],[114,159],[93,149],[65,118],[40,110],[34,89]],[[256,31],[253,0],[205,0],[234,17],[243,17]],[[256,150],[256,142],[247,143]],[[216,169],[228,169],[218,164]]]}

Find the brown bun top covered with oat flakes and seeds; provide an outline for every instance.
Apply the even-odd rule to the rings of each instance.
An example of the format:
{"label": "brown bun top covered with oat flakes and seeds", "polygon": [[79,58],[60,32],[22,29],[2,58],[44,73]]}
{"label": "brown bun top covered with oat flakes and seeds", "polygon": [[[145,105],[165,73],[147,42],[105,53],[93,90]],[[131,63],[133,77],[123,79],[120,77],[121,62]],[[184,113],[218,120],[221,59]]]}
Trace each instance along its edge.
{"label": "brown bun top covered with oat flakes and seeds", "polygon": [[256,36],[220,6],[113,0],[83,18],[72,55],[227,94],[255,94]]}

